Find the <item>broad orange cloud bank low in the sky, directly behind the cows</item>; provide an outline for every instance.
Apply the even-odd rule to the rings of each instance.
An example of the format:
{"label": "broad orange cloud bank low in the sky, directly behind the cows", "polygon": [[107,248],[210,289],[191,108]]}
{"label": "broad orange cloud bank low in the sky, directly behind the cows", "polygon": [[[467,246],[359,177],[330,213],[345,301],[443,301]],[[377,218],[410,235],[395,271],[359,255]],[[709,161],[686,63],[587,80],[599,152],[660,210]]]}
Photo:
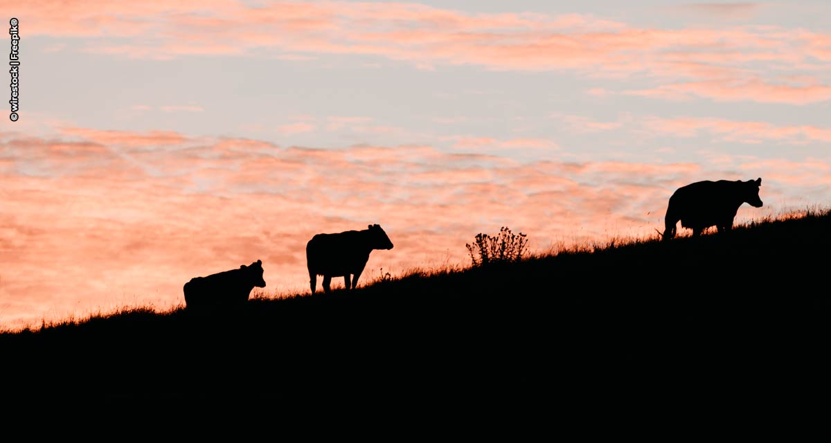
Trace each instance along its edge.
{"label": "broad orange cloud bank low in the sky, directly behind the cows", "polygon": [[652,235],[668,196],[691,181],[761,176],[765,210],[822,203],[831,189],[829,159],[523,164],[427,145],[287,148],[85,128],[0,137],[2,327],[175,306],[189,278],[257,259],[267,293],[305,293],[307,239],[366,224],[396,248],[373,253],[361,283],[381,268],[465,265],[465,242],[501,226],[535,250]]}

